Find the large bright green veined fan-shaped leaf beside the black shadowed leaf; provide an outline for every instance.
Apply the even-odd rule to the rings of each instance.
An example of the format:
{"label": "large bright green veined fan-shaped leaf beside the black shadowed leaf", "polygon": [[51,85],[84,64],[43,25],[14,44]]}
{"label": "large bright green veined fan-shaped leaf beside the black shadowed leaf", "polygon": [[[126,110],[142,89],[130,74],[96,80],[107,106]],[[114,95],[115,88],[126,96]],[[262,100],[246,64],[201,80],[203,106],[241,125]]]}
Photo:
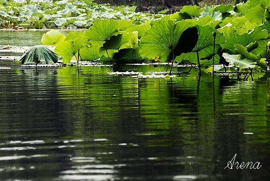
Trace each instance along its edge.
{"label": "large bright green veined fan-shaped leaf beside the black shadowed leaf", "polygon": [[140,53],[142,57],[149,59],[159,58],[161,61],[168,61],[172,52],[177,54],[176,47],[184,30],[194,26],[187,21],[175,23],[173,20],[159,21],[145,33],[140,40]]}

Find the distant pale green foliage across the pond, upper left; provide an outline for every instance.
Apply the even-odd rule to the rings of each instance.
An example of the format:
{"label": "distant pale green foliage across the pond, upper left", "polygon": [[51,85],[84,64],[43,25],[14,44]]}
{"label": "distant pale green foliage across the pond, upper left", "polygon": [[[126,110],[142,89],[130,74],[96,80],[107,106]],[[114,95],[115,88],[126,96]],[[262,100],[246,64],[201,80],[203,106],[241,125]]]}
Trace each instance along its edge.
{"label": "distant pale green foliage across the pond, upper left", "polygon": [[142,23],[162,15],[135,12],[136,6],[111,7],[92,0],[0,0],[0,28],[88,28],[99,20]]}

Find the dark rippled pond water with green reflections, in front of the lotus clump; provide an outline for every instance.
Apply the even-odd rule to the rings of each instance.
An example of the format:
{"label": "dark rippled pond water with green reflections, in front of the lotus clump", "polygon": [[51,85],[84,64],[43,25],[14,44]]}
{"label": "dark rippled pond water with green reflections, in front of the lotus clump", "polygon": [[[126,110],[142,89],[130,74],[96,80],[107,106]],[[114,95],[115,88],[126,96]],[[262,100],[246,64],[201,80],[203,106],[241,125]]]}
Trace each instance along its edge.
{"label": "dark rippled pond water with green reflections, in front of the lotus clump", "polygon": [[[0,180],[269,181],[266,75],[216,76],[213,85],[194,69],[108,74],[165,65],[2,66],[11,69],[0,69]],[[224,169],[235,154],[262,166]]]}

